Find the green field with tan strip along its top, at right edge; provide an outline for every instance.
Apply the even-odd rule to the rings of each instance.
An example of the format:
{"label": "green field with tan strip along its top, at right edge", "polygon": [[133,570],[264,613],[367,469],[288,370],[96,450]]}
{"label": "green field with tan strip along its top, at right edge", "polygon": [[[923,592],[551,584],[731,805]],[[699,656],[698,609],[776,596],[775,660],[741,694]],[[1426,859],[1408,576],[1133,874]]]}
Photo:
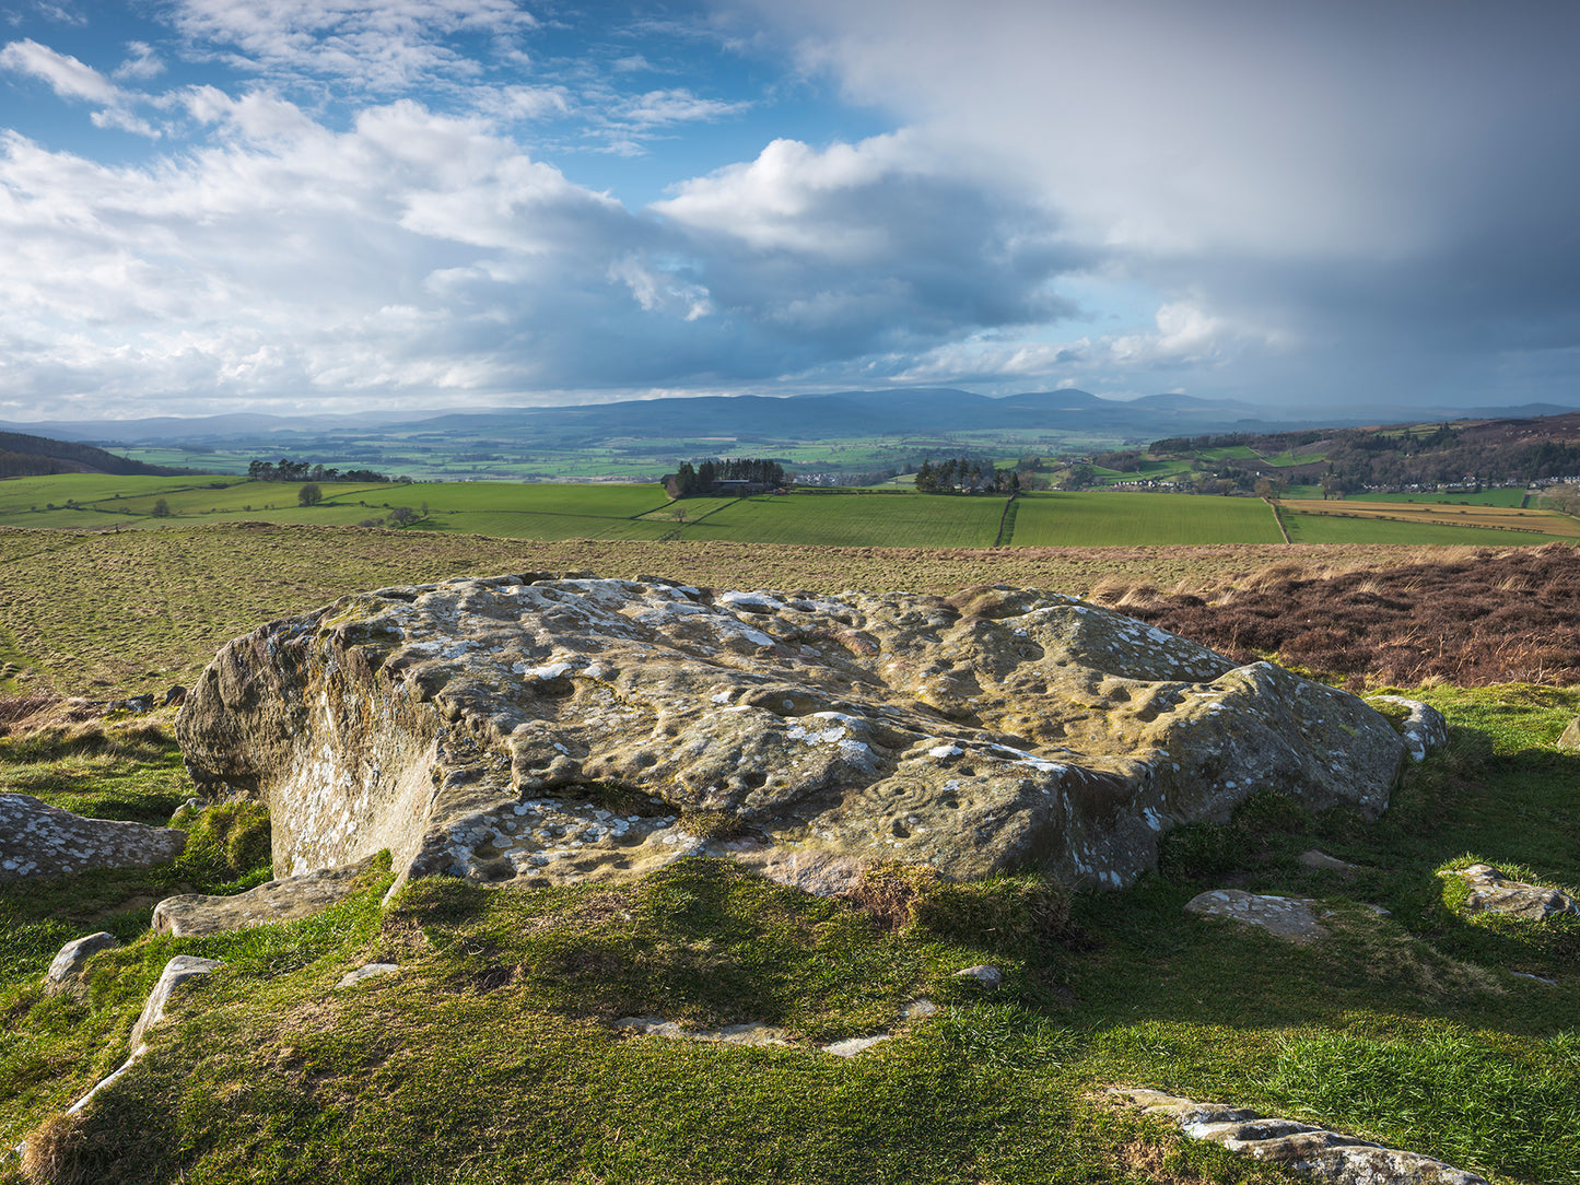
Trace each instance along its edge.
{"label": "green field with tan strip along its top, at right edge", "polygon": [[[1506,506],[1411,502],[1280,502],[1289,539],[1307,544],[1338,542],[1455,542],[1439,532],[1479,532],[1479,542],[1503,536],[1503,545],[1580,539],[1580,520],[1556,510],[1518,510]],[[1398,528],[1382,531],[1379,525]],[[1433,537],[1436,536],[1436,537]],[[1462,542],[1476,542],[1469,537]]]}

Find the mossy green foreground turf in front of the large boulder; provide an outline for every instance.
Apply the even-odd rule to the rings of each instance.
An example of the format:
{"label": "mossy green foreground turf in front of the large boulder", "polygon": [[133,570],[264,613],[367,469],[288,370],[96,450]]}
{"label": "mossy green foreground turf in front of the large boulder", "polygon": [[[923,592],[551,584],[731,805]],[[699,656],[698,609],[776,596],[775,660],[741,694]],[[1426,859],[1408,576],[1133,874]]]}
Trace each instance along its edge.
{"label": "mossy green foreground turf in front of the large boulder", "polygon": [[[1095,1101],[1117,1082],[1321,1122],[1499,1185],[1575,1180],[1580,921],[1466,918],[1435,872],[1474,855],[1580,883],[1580,755],[1552,747],[1580,692],[1419,694],[1449,714],[1450,747],[1381,820],[1255,798],[1171,833],[1161,874],[1078,897],[1073,929],[1036,875],[901,877],[869,913],[709,860],[570,890],[423,880],[386,910],[374,871],[318,918],[180,940],[141,931],[145,908],[106,923],[106,874],[0,883],[0,1139],[112,1068],[160,967],[194,953],[226,965],[88,1120],[44,1136],[84,1179],[1288,1180]],[[136,744],[149,793],[180,793],[160,741]],[[79,757],[65,743],[0,754],[35,771]],[[210,863],[183,875],[237,871],[215,863],[228,834],[199,839],[190,852]],[[1310,872],[1307,847],[1362,871]],[[1321,899],[1334,937],[1292,946],[1182,913],[1224,880]],[[57,940],[104,924],[128,945],[95,959],[84,992],[40,995]],[[401,970],[335,989],[368,961]],[[953,976],[976,962],[1005,988]],[[815,1049],[894,1029],[918,995],[942,1011],[853,1060]],[[632,1036],[611,1027],[627,1014],[763,1021],[793,1044]]]}

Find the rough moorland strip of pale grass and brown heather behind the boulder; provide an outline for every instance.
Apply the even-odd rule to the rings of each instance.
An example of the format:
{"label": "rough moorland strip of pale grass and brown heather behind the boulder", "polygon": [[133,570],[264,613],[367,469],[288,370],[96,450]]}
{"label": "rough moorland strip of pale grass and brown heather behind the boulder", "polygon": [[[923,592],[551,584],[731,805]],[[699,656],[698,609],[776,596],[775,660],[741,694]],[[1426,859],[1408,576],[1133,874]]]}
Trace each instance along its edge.
{"label": "rough moorland strip of pale grass and brown heather behind the boulder", "polygon": [[[1580,681],[1580,559],[1542,548],[885,548],[562,540],[216,523],[0,529],[0,694],[190,684],[229,638],[384,585],[499,572],[657,574],[714,588],[1051,588],[1239,657],[1373,683]],[[1160,591],[1160,589],[1168,589]]]}

